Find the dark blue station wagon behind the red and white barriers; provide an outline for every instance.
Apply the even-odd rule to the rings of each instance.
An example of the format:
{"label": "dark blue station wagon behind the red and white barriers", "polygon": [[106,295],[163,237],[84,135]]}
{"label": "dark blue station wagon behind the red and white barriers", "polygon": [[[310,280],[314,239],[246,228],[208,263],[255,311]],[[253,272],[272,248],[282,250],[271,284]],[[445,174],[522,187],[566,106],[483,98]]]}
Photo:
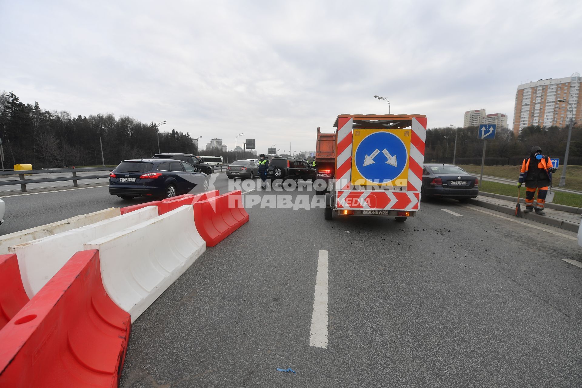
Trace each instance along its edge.
{"label": "dark blue station wagon behind the red and white barriers", "polygon": [[109,174],[109,194],[170,198],[208,190],[208,178],[189,163],[169,159],[132,159],[119,163]]}

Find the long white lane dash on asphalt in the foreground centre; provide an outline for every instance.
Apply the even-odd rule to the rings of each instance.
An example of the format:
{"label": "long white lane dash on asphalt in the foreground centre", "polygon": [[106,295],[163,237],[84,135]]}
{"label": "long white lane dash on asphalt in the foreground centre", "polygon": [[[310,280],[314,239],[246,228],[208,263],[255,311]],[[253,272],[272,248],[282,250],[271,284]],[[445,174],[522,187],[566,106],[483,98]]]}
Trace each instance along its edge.
{"label": "long white lane dash on asphalt in the foreground centre", "polygon": [[309,345],[327,348],[328,341],[328,251],[320,251],[315,278],[313,315],[311,315],[311,334]]}

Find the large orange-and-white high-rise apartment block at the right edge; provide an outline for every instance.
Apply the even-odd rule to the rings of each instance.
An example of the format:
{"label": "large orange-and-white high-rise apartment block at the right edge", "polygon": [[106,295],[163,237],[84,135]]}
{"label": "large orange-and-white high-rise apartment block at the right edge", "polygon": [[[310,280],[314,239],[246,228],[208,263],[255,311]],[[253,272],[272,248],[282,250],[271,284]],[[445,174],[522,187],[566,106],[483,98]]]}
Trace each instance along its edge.
{"label": "large orange-and-white high-rise apartment block at the right edge", "polygon": [[[515,109],[513,110],[513,132],[527,126],[565,127],[570,118],[582,118],[580,104],[580,74],[570,77],[539,80],[517,86]],[[567,102],[558,102],[559,99]]]}

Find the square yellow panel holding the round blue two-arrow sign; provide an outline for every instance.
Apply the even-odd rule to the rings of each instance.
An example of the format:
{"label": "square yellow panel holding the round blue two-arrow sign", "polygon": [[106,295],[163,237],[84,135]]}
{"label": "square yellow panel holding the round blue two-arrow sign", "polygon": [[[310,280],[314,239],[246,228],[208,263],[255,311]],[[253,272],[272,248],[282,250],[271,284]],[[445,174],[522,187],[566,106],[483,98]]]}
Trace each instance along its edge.
{"label": "square yellow panel holding the round blue two-arrow sign", "polygon": [[408,186],[410,129],[354,129],[352,184]]}

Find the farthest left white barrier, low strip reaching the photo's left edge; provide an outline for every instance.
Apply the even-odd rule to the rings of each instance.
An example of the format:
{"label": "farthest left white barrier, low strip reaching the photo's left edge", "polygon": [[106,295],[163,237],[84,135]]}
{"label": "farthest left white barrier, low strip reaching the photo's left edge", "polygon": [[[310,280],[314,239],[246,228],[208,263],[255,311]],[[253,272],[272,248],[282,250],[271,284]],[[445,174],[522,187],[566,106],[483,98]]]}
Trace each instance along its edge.
{"label": "farthest left white barrier, low strip reaching the photo's left edge", "polygon": [[8,247],[12,247],[12,245],[42,239],[42,237],[52,236],[56,233],[66,232],[67,230],[75,229],[77,227],[90,225],[91,223],[116,217],[120,214],[121,213],[119,208],[109,208],[94,213],[74,216],[72,218],[49,223],[47,225],[33,227],[31,229],[20,230],[20,232],[5,234],[4,236],[0,237],[0,255],[7,254]]}

